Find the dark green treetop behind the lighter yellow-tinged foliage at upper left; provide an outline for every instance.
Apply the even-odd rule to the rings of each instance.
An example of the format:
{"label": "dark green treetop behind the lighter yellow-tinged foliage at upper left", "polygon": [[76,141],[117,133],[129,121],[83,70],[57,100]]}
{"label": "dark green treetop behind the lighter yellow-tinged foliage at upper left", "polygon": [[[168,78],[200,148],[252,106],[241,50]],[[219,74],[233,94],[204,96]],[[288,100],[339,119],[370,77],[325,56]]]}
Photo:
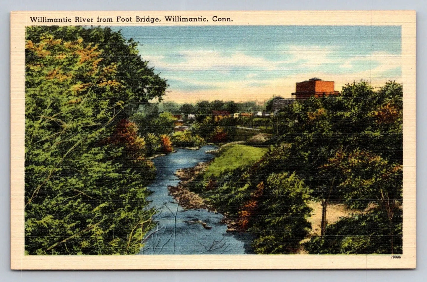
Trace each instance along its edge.
{"label": "dark green treetop behind the lighter yellow-tinged foliage at upper left", "polygon": [[[125,40],[120,32],[110,28],[85,28],[82,26],[32,26],[26,39],[32,42],[39,37],[53,36],[64,41],[74,42],[84,39],[97,50],[102,50],[99,67],[114,66],[116,80],[121,83],[122,94],[127,94],[123,112],[127,115],[137,110],[140,104],[152,99],[162,100],[167,81],[154,73],[154,67],[148,67],[137,49],[138,42]],[[120,100],[120,99],[119,99]]]}

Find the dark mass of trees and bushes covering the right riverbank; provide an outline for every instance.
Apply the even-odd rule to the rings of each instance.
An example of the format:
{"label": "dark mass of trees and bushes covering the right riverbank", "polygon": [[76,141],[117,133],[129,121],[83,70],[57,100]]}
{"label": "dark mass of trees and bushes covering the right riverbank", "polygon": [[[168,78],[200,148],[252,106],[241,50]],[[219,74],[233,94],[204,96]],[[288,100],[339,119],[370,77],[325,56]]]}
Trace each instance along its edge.
{"label": "dark mass of trees and bushes covering the right riverbank", "polygon": [[[199,175],[191,189],[254,234],[256,253],[401,253],[402,85],[348,84],[275,118],[275,146],[260,161]],[[301,246],[309,201],[322,205],[321,234]],[[364,211],[328,224],[331,202]]]}

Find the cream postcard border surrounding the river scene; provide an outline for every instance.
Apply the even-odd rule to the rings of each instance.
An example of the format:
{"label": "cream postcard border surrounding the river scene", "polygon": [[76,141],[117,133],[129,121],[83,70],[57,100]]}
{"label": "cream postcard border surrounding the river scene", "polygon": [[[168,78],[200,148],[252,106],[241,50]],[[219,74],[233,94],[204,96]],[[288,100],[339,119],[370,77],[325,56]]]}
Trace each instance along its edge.
{"label": "cream postcard border surrounding the river scene", "polygon": [[[183,17],[232,17],[233,25],[399,25],[402,27],[402,81],[404,83],[404,191],[403,256],[390,255],[156,255],[156,256],[36,256],[24,255],[24,131],[25,26],[29,16],[123,17],[164,14]],[[54,23],[82,25],[82,23]],[[98,23],[97,23],[98,25]],[[100,26],[132,26],[108,23]],[[143,23],[200,25],[200,23]],[[217,22],[215,25],[230,25]],[[415,11],[44,11],[11,13],[11,268],[12,269],[357,269],[415,268]]]}

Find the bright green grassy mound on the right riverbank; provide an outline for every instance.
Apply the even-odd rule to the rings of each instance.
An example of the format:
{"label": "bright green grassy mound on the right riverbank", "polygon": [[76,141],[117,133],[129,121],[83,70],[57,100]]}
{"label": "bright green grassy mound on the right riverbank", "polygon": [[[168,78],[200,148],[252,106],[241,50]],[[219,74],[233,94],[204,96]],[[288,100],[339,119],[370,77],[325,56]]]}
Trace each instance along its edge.
{"label": "bright green grassy mound on the right riverbank", "polygon": [[219,176],[226,170],[234,170],[248,164],[253,164],[259,160],[266,152],[267,148],[252,147],[247,145],[230,145],[221,149],[221,154],[216,157],[208,170],[205,177]]}

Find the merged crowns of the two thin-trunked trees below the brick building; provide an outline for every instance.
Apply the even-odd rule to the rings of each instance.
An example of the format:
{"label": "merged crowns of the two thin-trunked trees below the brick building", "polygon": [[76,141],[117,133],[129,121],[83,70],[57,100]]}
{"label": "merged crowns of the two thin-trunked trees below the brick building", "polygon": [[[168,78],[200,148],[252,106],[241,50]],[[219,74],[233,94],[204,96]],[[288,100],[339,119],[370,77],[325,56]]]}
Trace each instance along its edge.
{"label": "merged crowns of the two thin-trunked trees below the brick building", "polygon": [[[396,171],[389,184],[373,178],[402,165],[401,84],[388,82],[374,91],[365,81],[354,82],[343,87],[341,95],[296,102],[279,118],[277,141],[292,144],[287,171],[304,178],[313,199],[322,202],[322,234],[328,202],[333,199],[352,201],[353,206],[361,199],[365,206],[371,201],[383,208],[389,205],[391,220],[401,201],[401,176]],[[377,201],[381,187],[387,199]],[[363,197],[354,201],[355,195]]]}

